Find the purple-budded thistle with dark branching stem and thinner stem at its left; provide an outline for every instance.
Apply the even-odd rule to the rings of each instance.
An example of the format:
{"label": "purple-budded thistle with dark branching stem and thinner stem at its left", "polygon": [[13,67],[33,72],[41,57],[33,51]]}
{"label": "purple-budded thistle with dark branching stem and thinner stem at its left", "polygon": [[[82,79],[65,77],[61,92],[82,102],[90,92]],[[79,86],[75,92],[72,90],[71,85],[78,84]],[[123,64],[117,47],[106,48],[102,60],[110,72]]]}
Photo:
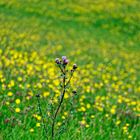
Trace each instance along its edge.
{"label": "purple-budded thistle with dark branching stem and thinner stem at its left", "polygon": [[[61,72],[61,79],[62,79],[62,81],[61,81],[61,92],[60,92],[60,95],[59,95],[59,101],[58,101],[58,105],[56,106],[56,110],[54,110],[54,112],[52,112],[52,116],[51,116],[51,118],[52,118],[52,126],[51,126],[51,134],[52,134],[52,139],[54,139],[54,136],[56,135],[55,133],[54,133],[54,130],[55,130],[55,123],[56,123],[56,119],[57,119],[57,116],[58,116],[58,113],[59,113],[59,110],[60,110],[60,108],[61,108],[61,106],[62,106],[62,103],[63,103],[63,100],[64,100],[64,97],[65,97],[65,93],[66,93],[66,91],[67,91],[67,88],[68,88],[68,86],[69,86],[69,84],[70,84],[70,82],[71,82],[71,79],[72,79],[72,77],[73,77],[73,73],[75,72],[75,70],[77,69],[77,65],[76,64],[74,64],[73,65],[73,67],[72,67],[72,69],[70,70],[70,71],[68,71],[67,70],[67,64],[68,64],[68,62],[69,62],[69,60],[67,59],[67,57],[66,56],[62,56],[62,59],[60,60],[59,58],[56,58],[55,59],[55,63],[58,65],[58,67],[59,67],[59,69],[60,69],[60,72]],[[68,79],[68,76],[67,76],[67,73],[68,72],[70,72],[70,77],[69,77],[69,79]],[[72,92],[73,94],[76,94],[77,92],[74,90],[73,92]],[[45,132],[46,132],[46,136],[48,135],[48,126],[50,125],[50,124],[48,124],[47,123],[47,125],[48,126],[46,126],[46,122],[45,122],[45,118],[44,118],[44,114],[43,114],[43,112],[42,112],[42,108],[41,108],[41,104],[40,104],[40,95],[39,94],[37,94],[36,95],[36,97],[37,97],[37,101],[38,101],[38,108],[39,108],[39,113],[40,113],[40,115],[42,116],[42,122],[43,122],[43,126],[44,126],[44,130],[45,130]],[[54,108],[54,107],[53,107]],[[66,113],[65,113],[66,114]],[[50,116],[50,114],[49,114],[49,116]],[[62,118],[63,119],[65,119],[65,116],[62,116]],[[61,123],[59,123],[58,122],[58,126],[60,126],[61,125]],[[38,124],[37,123],[37,126],[40,126],[40,123]],[[48,136],[47,136],[48,137]]]}

